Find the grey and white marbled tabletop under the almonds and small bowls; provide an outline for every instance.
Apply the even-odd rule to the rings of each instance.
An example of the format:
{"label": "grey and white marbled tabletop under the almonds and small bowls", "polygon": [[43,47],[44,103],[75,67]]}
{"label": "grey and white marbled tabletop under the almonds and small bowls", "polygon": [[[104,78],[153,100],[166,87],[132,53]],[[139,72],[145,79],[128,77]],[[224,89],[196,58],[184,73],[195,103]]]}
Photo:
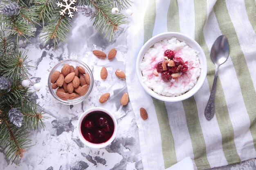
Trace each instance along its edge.
{"label": "grey and white marbled tabletop under the almonds and small bowls", "polygon": [[[79,14],[73,19],[72,31],[67,44],[44,45],[39,41],[38,33],[29,42],[20,44],[20,49],[27,51],[30,65],[31,80],[40,82],[42,88],[34,93],[37,102],[44,108],[48,119],[45,128],[31,132],[32,144],[27,149],[19,165],[9,164],[0,153],[0,169],[4,170],[143,170],[141,162],[138,128],[130,103],[121,106],[121,96],[127,92],[125,80],[115,76],[115,70],[125,71],[126,64],[126,29],[119,31],[114,42],[104,40],[94,30],[89,18]],[[117,49],[114,60],[99,60],[92,50],[99,49],[106,53]],[[47,79],[52,67],[58,62],[74,58],[88,64],[94,75],[94,88],[85,101],[76,105],[58,103],[49,93]],[[101,67],[106,66],[108,78],[100,78]],[[34,91],[34,90],[32,90]],[[103,93],[110,93],[105,104],[99,103]],[[111,145],[102,149],[92,149],[78,139],[76,124],[79,115],[92,107],[103,107],[113,112],[118,121],[116,139]],[[239,164],[213,168],[212,170],[256,170],[256,160],[251,159]]]}

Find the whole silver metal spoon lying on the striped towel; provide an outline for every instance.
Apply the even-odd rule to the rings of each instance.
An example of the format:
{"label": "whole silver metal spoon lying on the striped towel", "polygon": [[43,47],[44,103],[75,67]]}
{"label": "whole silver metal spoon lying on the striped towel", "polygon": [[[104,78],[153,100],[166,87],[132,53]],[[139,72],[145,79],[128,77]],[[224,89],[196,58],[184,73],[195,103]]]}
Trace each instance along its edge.
{"label": "whole silver metal spoon lying on the striped towel", "polygon": [[213,46],[211,47],[211,60],[216,65],[215,75],[213,80],[213,86],[211,89],[211,95],[209,97],[208,103],[204,110],[204,115],[207,120],[211,120],[215,113],[215,90],[216,90],[216,82],[218,77],[219,66],[227,60],[229,57],[229,42],[227,41],[227,37],[225,35],[220,35]]}

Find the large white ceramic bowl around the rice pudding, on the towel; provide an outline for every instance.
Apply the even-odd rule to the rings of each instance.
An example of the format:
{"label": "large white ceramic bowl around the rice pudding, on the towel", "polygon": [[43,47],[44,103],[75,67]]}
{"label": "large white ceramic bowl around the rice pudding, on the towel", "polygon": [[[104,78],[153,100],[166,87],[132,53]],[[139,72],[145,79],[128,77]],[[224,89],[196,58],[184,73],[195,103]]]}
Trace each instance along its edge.
{"label": "large white ceramic bowl around the rice pudding, on the towel", "polygon": [[[159,95],[157,93],[155,93],[153,90],[151,90],[148,86],[146,86],[146,84],[142,81],[142,73],[141,70],[139,68],[142,59],[146,53],[146,51],[152,47],[156,42],[159,42],[161,40],[164,39],[170,39],[172,37],[177,38],[177,40],[180,41],[184,41],[186,42],[186,44],[188,44],[191,48],[195,49],[196,51],[199,52],[198,57],[199,57],[199,61],[200,64],[202,66],[201,72],[200,72],[200,76],[198,77],[198,81],[196,82],[195,86],[193,86],[192,89],[190,89],[188,92],[184,93],[183,95],[180,96],[176,96],[176,97],[167,97],[167,96],[163,96],[163,95]],[[144,88],[144,90],[151,95],[152,97],[165,101],[165,102],[179,102],[182,100],[185,100],[191,96],[193,96],[202,86],[202,84],[204,83],[204,80],[206,78],[207,75],[207,61],[206,61],[206,57],[204,55],[204,51],[202,50],[201,46],[192,38],[190,38],[189,36],[182,34],[182,33],[176,33],[176,32],[166,32],[166,33],[160,33],[158,35],[155,35],[154,37],[150,38],[141,48],[141,50],[139,51],[138,57],[137,57],[137,61],[136,61],[136,73],[137,73],[137,77],[139,79],[139,82],[141,84],[141,86]]]}

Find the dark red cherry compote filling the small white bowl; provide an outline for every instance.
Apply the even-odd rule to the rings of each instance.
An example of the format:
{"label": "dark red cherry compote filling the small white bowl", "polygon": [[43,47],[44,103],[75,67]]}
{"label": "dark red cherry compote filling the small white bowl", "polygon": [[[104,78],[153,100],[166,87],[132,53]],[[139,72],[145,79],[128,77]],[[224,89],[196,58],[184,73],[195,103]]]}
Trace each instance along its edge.
{"label": "dark red cherry compote filling the small white bowl", "polygon": [[81,124],[81,132],[85,140],[101,144],[108,141],[114,133],[114,121],[105,112],[93,111],[85,116]]}

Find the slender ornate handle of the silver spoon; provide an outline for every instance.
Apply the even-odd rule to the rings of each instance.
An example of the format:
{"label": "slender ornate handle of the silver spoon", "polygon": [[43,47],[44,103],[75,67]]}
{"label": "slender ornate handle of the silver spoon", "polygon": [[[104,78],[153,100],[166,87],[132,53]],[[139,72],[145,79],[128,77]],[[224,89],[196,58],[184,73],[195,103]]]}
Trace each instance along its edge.
{"label": "slender ornate handle of the silver spoon", "polygon": [[216,82],[217,82],[217,77],[218,77],[218,71],[219,71],[219,66],[216,66],[214,80],[213,80],[213,86],[211,88],[211,94],[210,94],[209,100],[208,100],[207,105],[204,110],[204,115],[207,120],[211,120],[211,118],[213,118],[214,113],[215,113],[215,91],[216,91]]}

